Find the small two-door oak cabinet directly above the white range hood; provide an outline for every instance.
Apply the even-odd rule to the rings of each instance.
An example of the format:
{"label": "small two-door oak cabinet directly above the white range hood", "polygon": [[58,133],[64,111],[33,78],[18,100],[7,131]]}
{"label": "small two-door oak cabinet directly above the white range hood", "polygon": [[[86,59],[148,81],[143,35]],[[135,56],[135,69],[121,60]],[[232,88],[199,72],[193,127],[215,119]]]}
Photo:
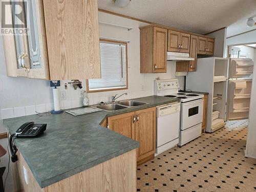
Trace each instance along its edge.
{"label": "small two-door oak cabinet directly above the white range hood", "polygon": [[167,51],[189,53],[190,34],[168,30]]}

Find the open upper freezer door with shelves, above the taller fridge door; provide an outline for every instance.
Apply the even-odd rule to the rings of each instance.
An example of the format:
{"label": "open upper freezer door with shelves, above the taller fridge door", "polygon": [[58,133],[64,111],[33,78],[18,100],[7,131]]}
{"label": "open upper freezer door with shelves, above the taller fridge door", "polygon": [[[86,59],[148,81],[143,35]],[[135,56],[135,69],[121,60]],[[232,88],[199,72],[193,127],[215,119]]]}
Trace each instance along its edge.
{"label": "open upper freezer door with shelves, above the taller fridge door", "polygon": [[251,59],[230,58],[229,79],[249,77],[253,73],[254,63]]}

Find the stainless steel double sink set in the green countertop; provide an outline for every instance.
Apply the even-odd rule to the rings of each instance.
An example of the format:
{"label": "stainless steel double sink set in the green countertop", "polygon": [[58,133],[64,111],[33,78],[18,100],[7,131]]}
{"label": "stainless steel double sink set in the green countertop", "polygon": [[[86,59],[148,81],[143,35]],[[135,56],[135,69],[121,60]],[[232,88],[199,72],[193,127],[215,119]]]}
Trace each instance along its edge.
{"label": "stainless steel double sink set in the green countertop", "polygon": [[97,108],[105,111],[117,111],[117,110],[131,108],[134,106],[141,106],[145,104],[148,104],[148,103],[141,102],[141,101],[134,101],[134,100],[124,100],[124,101],[118,101],[116,103],[99,105],[97,106]]}

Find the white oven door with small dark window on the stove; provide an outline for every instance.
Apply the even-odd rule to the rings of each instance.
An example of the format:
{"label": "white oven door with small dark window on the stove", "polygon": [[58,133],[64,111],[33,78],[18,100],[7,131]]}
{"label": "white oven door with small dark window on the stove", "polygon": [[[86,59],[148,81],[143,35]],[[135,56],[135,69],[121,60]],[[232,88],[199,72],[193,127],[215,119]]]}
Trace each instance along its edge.
{"label": "white oven door with small dark window on the stove", "polygon": [[181,130],[203,121],[203,99],[181,103]]}

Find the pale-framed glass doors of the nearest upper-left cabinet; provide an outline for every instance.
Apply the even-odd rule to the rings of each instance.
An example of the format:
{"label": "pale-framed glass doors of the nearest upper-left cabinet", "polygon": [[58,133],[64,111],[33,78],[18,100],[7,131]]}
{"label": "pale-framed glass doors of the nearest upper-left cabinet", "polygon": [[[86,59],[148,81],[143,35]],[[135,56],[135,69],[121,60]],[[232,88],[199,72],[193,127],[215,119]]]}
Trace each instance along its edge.
{"label": "pale-framed glass doors of the nearest upper-left cabinet", "polygon": [[18,17],[14,13],[20,11],[23,20],[26,20],[28,30],[27,35],[24,33],[3,36],[7,75],[49,79],[42,2],[27,1],[26,5],[23,2],[22,6],[25,11],[16,10],[21,7],[13,5],[8,15],[16,24]]}

